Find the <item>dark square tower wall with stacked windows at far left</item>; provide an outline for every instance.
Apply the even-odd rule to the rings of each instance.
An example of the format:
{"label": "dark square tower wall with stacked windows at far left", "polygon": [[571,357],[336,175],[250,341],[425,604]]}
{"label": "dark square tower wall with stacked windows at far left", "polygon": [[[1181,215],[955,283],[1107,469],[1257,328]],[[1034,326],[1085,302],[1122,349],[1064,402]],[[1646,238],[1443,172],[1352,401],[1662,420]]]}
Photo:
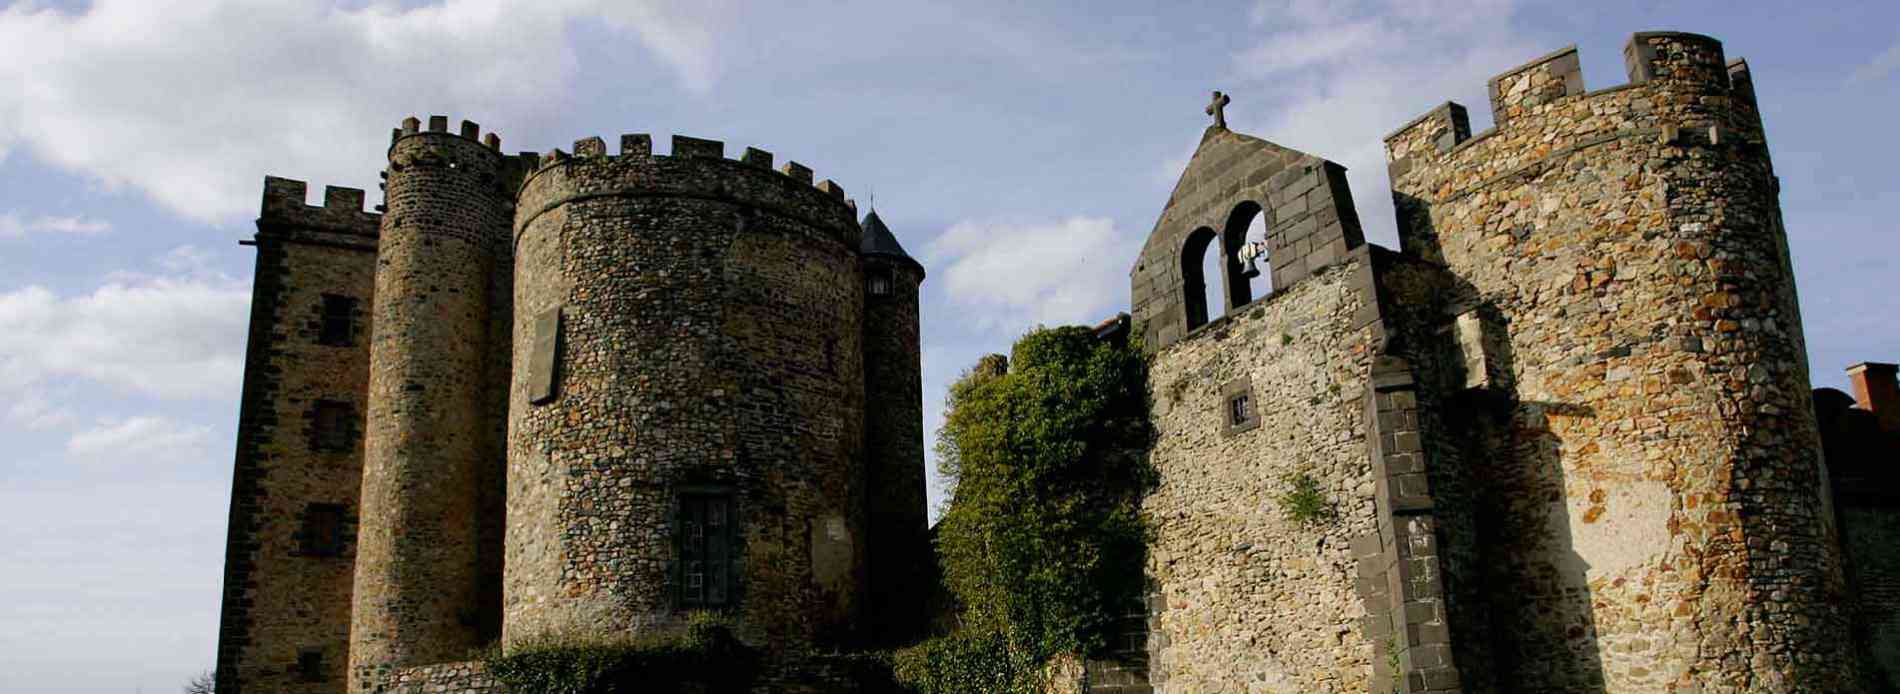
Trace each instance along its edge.
{"label": "dark square tower wall with stacked windows at far left", "polygon": [[[363,211],[363,190],[331,186],[321,207],[306,205],[304,192],[300,181],[264,179],[253,241],[218,692],[342,692],[350,660],[378,217]],[[321,340],[325,295],[355,302],[346,342]],[[353,413],[342,449],[314,445],[319,403]],[[340,510],[334,548],[304,536],[312,504]]]}

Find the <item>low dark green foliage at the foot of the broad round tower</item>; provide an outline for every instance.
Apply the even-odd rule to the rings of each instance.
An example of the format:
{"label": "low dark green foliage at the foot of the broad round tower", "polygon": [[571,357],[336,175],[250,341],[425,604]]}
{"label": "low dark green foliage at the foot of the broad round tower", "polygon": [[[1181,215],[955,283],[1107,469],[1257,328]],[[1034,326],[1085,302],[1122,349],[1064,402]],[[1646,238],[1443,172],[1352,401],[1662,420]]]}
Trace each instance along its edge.
{"label": "low dark green foliage at the foot of the broad round tower", "polygon": [[688,683],[716,692],[745,690],[758,652],[739,643],[714,612],[688,616],[684,633],[600,639],[551,633],[488,648],[483,665],[515,692],[671,692]]}

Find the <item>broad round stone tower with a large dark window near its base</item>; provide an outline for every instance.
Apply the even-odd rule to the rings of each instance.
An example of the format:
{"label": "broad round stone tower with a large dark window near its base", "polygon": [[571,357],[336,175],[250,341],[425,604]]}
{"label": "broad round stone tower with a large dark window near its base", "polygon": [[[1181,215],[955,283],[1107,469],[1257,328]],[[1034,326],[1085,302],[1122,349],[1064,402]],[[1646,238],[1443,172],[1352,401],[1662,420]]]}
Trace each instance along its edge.
{"label": "broad round stone tower with a large dark window near its base", "polygon": [[701,608],[779,650],[853,637],[859,234],[844,190],[760,150],[543,158],[515,217],[507,641]]}

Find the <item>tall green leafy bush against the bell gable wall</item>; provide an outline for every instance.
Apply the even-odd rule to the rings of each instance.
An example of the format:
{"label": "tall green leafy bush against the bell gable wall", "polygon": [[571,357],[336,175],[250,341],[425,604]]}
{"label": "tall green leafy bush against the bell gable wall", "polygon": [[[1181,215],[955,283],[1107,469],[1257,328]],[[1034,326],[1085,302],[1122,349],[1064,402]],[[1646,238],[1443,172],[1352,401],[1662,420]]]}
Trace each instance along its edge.
{"label": "tall green leafy bush against the bell gable wall", "polygon": [[956,492],[937,553],[967,635],[920,646],[912,669],[967,662],[960,681],[996,683],[1106,645],[1142,588],[1146,369],[1138,346],[1087,327],[1036,329],[950,388],[937,453]]}

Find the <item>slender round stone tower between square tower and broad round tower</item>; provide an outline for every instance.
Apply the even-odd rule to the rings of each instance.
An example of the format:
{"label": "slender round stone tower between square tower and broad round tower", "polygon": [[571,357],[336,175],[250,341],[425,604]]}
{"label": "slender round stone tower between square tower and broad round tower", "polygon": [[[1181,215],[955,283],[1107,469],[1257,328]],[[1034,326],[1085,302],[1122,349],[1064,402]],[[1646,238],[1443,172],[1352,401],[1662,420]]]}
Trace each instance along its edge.
{"label": "slender round stone tower between square tower and broad round tower", "polygon": [[[414,118],[390,145],[376,257],[350,690],[464,658],[498,631],[500,390],[511,198],[464,122]],[[498,291],[502,287],[504,291]],[[500,306],[498,306],[500,302]],[[490,506],[484,510],[484,506]]]}

